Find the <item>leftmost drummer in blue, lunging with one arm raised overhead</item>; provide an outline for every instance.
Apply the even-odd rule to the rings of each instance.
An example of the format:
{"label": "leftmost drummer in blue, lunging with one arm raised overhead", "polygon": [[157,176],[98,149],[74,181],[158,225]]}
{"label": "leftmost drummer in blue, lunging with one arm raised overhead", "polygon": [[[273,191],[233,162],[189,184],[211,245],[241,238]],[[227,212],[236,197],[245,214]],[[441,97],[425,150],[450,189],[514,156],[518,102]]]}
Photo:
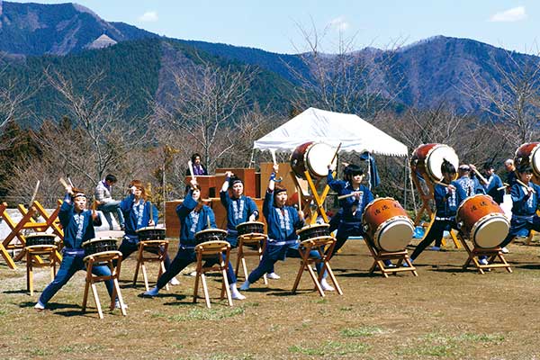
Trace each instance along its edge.
{"label": "leftmost drummer in blue, lunging with one arm raised overhead", "polygon": [[[95,211],[86,210],[86,195],[82,191],[67,186],[64,202],[60,206],[58,219],[64,229],[64,248],[62,250],[62,263],[54,280],[43,290],[40,300],[34,308],[42,311],[47,307],[49,300],[58,293],[69,279],[78,270],[85,270],[85,249],[82,244],[91,238],[95,238],[94,225],[100,226],[101,220]],[[93,274],[97,276],[109,276],[111,270],[108,266],[93,267]],[[112,296],[112,280],[105,281],[107,292]],[[120,303],[116,300],[116,308]]]}

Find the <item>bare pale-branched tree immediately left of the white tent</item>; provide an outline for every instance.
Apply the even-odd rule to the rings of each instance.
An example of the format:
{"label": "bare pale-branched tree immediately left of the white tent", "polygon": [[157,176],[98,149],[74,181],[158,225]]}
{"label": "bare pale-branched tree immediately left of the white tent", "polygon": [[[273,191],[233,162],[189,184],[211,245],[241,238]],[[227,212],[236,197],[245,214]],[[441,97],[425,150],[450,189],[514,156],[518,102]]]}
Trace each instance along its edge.
{"label": "bare pale-branched tree immediately left of the white tent", "polygon": [[237,141],[234,123],[249,107],[247,94],[256,72],[198,60],[199,64],[170,69],[174,89],[157,104],[155,124],[178,131],[175,136],[180,135],[184,153],[201,149],[203,163],[212,169]]}

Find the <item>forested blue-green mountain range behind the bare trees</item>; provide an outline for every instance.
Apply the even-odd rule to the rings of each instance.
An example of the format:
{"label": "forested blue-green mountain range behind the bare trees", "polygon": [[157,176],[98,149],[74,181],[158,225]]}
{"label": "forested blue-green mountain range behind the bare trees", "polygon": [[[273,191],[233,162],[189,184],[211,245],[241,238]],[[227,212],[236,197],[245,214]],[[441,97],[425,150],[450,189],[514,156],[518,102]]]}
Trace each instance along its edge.
{"label": "forested blue-green mountain range behind the bare trees", "polygon": [[[93,69],[103,69],[107,74],[103,86],[129,98],[134,115],[148,111],[145,96],[166,91],[166,67],[185,66],[178,58],[196,61],[204,57],[216,66],[257,67],[252,100],[284,112],[290,107],[293,87],[302,86],[298,74],[313,76],[306,54],[168,39],[127,23],[105,22],[79,4],[0,0],[0,52],[2,61],[9,64],[4,80],[39,76],[43,68],[54,67],[76,82]],[[422,109],[448,103],[461,112],[471,112],[478,108],[473,98],[464,95],[464,85],[472,81],[471,71],[486,84],[494,84],[500,79],[497,68],[512,69],[508,54],[506,49],[480,41],[436,36],[401,49],[366,48],[347,56],[370,58],[373,68],[369,73],[374,74],[370,87],[392,97],[396,105]],[[538,61],[531,55],[512,55]],[[41,117],[58,116],[54,96],[49,88],[40,90],[32,103],[33,112]]]}

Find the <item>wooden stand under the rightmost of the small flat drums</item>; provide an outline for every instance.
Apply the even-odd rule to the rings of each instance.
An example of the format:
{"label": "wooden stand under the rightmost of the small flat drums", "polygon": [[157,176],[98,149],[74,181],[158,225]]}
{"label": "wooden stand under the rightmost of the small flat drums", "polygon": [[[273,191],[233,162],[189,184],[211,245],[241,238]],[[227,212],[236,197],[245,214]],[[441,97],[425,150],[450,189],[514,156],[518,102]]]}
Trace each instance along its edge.
{"label": "wooden stand under the rightmost of the small flat drums", "polygon": [[[307,240],[303,240],[300,243],[300,246],[298,247],[298,252],[300,253],[300,257],[302,260],[300,261],[300,268],[298,269],[298,274],[296,275],[296,280],[294,281],[293,293],[296,293],[296,289],[300,284],[302,275],[304,271],[307,271],[308,273],[310,273],[311,280],[313,280],[313,283],[315,284],[315,287],[317,288],[320,296],[324,297],[324,291],[320,286],[320,281],[322,280],[322,276],[326,271],[328,272],[330,279],[332,279],[332,283],[336,287],[336,291],[338,292],[338,294],[343,295],[341,287],[339,287],[338,280],[336,279],[336,276],[334,276],[334,273],[332,272],[332,268],[330,267],[329,263],[335,246],[336,239],[327,236],[319,238],[309,238]],[[319,252],[320,258],[310,257],[311,250],[317,250]],[[323,265],[322,270],[320,271],[320,275],[316,276],[311,266],[312,264],[320,263],[322,263]]]}

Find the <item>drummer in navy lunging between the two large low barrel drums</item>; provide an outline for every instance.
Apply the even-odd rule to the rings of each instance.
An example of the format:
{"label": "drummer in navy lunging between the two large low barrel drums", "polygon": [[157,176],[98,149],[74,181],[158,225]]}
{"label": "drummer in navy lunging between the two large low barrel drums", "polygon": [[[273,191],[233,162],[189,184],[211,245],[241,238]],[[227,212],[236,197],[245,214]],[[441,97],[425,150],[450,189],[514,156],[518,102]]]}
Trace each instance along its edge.
{"label": "drummer in navy lunging between the two large low barrel drums", "polygon": [[455,214],[460,203],[466,198],[466,194],[461,184],[454,180],[454,165],[446,159],[443,160],[443,164],[441,165],[441,173],[443,174],[443,181],[436,184],[434,189],[435,205],[437,207],[435,220],[431,224],[428,234],[426,234],[414,249],[414,252],[410,256],[410,261],[414,261],[419,257],[421,252],[434,240],[436,241],[436,246],[440,244],[445,230],[457,229]]}

